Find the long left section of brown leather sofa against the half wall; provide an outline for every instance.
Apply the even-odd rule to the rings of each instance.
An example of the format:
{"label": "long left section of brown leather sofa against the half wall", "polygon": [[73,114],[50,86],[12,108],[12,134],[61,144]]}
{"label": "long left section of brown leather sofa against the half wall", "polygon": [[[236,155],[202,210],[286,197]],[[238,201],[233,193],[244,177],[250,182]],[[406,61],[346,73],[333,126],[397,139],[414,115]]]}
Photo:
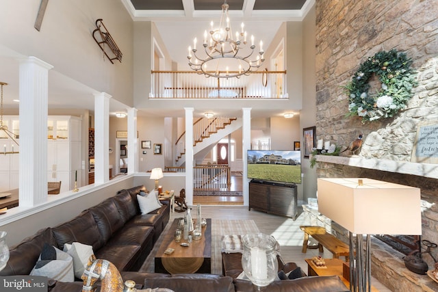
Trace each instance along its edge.
{"label": "long left section of brown leather sofa against the half wall", "polygon": [[138,271],[170,216],[168,204],[142,215],[137,201],[140,191],[146,191],[144,186],[118,191],[72,220],[27,237],[10,250],[0,276],[29,275],[44,243],[62,250],[65,243],[75,241],[92,245],[96,258],[107,259],[119,271]]}

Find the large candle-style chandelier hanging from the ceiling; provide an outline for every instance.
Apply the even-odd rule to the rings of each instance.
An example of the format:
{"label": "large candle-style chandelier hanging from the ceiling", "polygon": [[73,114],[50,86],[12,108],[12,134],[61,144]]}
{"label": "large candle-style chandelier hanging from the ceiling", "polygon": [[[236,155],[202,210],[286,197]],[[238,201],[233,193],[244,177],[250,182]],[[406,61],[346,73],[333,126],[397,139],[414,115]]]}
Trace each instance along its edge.
{"label": "large candle-style chandelier hanging from the ceiling", "polygon": [[[204,32],[203,47],[205,53],[199,53],[196,49],[197,39],[193,40],[193,49],[189,47],[189,65],[198,74],[205,77],[229,78],[241,75],[249,75],[255,72],[265,60],[263,57],[263,42],[260,41],[259,54],[253,56],[255,50],[254,36],[250,37],[250,46],[246,42],[247,33],[244,23],[240,25],[240,32],[231,29],[231,21],[228,14],[229,5],[227,0],[222,4],[222,15],[219,27],[210,23],[209,34]],[[208,65],[207,65],[208,64]]]}

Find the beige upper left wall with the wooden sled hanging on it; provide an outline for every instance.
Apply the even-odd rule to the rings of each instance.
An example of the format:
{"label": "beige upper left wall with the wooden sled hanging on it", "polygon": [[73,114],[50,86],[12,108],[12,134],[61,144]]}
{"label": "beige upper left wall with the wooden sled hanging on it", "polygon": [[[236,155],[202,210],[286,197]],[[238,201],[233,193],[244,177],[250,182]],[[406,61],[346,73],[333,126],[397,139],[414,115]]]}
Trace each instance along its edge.
{"label": "beige upper left wall with the wooden sled hanging on it", "polygon": [[[119,0],[50,1],[40,31],[34,29],[40,1],[4,0],[0,10],[1,45],[23,57],[35,56],[99,92],[132,105],[132,20]],[[111,64],[92,38],[95,21],[103,23],[123,53]],[[116,81],[116,82],[114,82]],[[92,98],[92,96],[90,96]]]}

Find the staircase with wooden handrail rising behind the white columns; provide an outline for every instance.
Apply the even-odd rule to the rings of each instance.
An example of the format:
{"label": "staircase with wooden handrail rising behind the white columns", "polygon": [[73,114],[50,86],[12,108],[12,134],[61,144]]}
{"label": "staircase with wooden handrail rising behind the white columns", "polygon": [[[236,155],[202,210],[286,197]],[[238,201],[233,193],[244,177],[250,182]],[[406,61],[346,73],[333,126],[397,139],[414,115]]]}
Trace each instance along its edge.
{"label": "staircase with wooden handrail rising behind the white columns", "polygon": [[[242,127],[240,118],[200,118],[193,123],[193,153],[196,157],[205,157],[223,137]],[[185,132],[175,143],[177,148],[176,166],[185,164]]]}

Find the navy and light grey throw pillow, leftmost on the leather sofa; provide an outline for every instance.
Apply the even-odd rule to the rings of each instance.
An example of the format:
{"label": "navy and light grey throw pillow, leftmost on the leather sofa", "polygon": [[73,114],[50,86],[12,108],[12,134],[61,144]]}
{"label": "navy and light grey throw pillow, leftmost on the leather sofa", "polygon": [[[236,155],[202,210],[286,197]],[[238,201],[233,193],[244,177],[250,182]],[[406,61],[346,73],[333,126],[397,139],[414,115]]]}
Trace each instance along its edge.
{"label": "navy and light grey throw pillow, leftmost on the leather sofa", "polygon": [[45,243],[40,258],[29,275],[45,276],[61,282],[73,282],[75,280],[73,258],[70,254]]}

